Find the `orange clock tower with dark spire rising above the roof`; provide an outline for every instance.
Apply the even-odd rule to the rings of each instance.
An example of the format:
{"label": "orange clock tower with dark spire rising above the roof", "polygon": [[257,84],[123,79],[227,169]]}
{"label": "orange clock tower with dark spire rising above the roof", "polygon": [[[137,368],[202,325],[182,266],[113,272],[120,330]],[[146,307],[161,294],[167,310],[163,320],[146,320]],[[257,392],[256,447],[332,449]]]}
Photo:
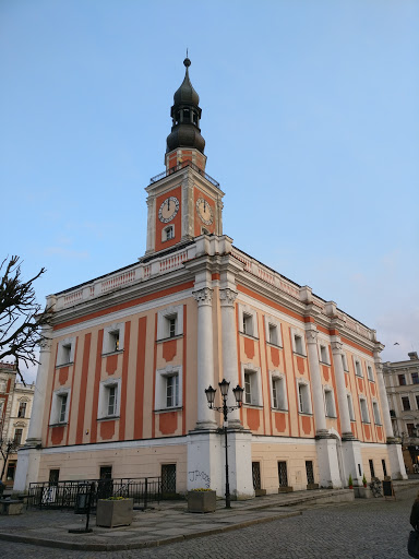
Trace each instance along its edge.
{"label": "orange clock tower with dark spire rising above the roof", "polygon": [[148,206],[146,254],[165,251],[201,235],[223,235],[223,197],[218,182],[205,173],[205,140],[201,135],[200,97],[189,78],[173,95],[171,132],[167,136],[166,170],[145,189]]}

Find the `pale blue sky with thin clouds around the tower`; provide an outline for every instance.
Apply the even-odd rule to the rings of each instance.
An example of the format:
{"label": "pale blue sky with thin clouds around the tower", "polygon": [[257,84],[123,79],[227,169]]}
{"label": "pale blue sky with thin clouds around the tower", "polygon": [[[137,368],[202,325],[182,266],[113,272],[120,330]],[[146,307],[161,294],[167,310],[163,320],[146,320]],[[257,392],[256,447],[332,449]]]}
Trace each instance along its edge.
{"label": "pale blue sky with thin clouds around the tower", "polygon": [[408,0],[2,0],[2,255],[43,300],[144,253],[188,47],[224,233],[407,358],[418,28]]}

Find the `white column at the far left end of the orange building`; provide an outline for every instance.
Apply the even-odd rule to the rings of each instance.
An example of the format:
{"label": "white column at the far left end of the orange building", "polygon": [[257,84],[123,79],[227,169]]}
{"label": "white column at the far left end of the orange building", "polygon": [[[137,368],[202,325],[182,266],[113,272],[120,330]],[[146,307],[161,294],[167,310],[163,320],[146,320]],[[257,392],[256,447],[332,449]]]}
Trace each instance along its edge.
{"label": "white column at the far left end of the orange building", "polygon": [[32,404],[31,423],[25,447],[35,447],[43,440],[43,419],[46,411],[45,397],[47,391],[48,369],[51,356],[52,328],[43,329],[44,342],[40,346],[39,366],[36,374],[34,402]]}

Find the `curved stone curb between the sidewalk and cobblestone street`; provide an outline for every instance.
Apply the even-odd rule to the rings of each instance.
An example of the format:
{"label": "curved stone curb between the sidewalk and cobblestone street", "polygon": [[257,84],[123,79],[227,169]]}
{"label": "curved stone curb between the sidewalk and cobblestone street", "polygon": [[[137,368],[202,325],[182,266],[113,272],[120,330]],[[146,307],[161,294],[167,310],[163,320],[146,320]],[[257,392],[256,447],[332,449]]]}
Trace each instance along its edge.
{"label": "curved stone curb between the sidewalk and cobblestone street", "polygon": [[0,540],[3,539],[5,542],[14,542],[17,544],[28,544],[40,547],[52,547],[59,549],[71,549],[77,551],[123,551],[129,549],[145,549],[151,547],[160,547],[168,544],[177,544],[179,542],[185,542],[188,539],[195,539],[199,537],[205,536],[214,536],[217,534],[223,534],[224,532],[232,532],[239,528],[246,528],[248,526],[252,526],[253,524],[263,524],[266,522],[273,522],[275,520],[280,519],[289,519],[291,516],[300,516],[302,514],[301,511],[274,514],[273,516],[262,518],[262,519],[253,519],[248,520],[246,522],[240,522],[238,524],[232,524],[230,526],[223,526],[212,530],[206,530],[205,532],[196,532],[194,534],[183,534],[181,536],[172,536],[165,539],[154,539],[151,542],[133,542],[131,544],[77,544],[75,542],[64,542],[60,539],[43,539],[32,536],[20,536],[14,534],[7,534],[0,532]]}

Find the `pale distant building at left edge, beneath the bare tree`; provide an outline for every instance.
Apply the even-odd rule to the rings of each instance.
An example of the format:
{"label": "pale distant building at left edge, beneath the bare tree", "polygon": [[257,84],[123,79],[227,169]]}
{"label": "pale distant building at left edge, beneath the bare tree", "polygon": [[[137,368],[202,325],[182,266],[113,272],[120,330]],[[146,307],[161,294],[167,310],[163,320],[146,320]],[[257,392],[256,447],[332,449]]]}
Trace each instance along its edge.
{"label": "pale distant building at left edge, beneath the bare tree", "polygon": [[[25,443],[34,392],[34,384],[16,382],[14,364],[0,362],[0,444],[13,440],[19,448]],[[16,462],[15,450],[8,455],[5,463],[0,455],[0,479],[8,486],[13,486]]]}

